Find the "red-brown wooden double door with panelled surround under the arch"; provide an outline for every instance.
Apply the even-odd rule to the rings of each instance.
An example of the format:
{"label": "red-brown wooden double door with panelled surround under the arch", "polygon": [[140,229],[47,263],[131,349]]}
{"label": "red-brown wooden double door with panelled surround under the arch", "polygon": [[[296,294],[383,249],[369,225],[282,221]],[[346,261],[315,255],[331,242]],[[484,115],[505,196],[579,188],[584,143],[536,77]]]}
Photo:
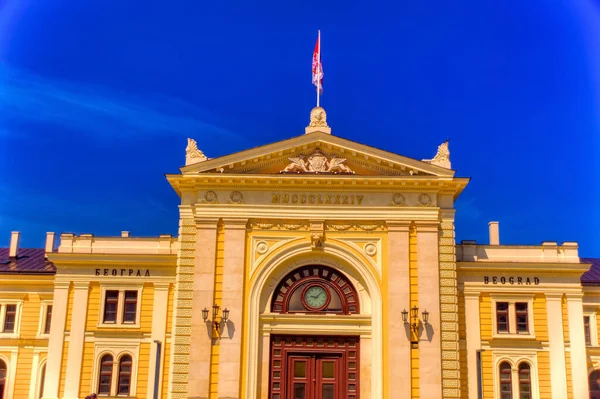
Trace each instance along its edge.
{"label": "red-brown wooden double door with panelled surround under the arch", "polygon": [[358,338],[273,337],[271,399],[357,399]]}

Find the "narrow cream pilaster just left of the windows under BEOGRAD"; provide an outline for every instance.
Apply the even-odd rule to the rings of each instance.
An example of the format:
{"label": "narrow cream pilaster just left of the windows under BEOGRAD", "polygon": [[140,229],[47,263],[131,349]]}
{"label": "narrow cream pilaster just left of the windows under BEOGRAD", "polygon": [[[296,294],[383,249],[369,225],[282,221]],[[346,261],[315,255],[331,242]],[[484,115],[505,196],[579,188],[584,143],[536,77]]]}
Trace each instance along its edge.
{"label": "narrow cream pilaster just left of the windows under BEOGRAD", "polygon": [[479,293],[465,292],[465,320],[467,327],[467,376],[469,399],[478,399],[477,351],[481,349],[479,321]]}

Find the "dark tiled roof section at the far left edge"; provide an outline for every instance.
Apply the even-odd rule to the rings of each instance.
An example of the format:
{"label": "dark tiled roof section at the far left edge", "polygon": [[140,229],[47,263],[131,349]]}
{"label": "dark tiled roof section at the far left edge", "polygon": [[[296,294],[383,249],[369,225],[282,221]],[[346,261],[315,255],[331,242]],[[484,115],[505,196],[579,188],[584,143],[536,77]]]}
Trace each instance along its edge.
{"label": "dark tiled roof section at the far left edge", "polygon": [[0,274],[55,274],[56,267],[46,259],[44,248],[19,248],[9,258],[8,248],[0,248]]}

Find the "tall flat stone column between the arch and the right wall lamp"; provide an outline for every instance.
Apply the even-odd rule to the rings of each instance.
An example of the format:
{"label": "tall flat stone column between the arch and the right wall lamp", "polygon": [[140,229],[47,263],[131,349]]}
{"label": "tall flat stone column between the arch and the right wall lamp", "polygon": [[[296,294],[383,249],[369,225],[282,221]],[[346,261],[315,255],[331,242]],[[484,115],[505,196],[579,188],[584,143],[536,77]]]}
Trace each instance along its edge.
{"label": "tall flat stone column between the arch and the right wall lamp", "polygon": [[[384,331],[387,331],[386,397],[410,398],[410,336],[402,321],[402,310],[410,309],[409,242],[410,222],[388,221],[388,298],[383,298],[386,309]],[[361,374],[361,379],[363,375]]]}

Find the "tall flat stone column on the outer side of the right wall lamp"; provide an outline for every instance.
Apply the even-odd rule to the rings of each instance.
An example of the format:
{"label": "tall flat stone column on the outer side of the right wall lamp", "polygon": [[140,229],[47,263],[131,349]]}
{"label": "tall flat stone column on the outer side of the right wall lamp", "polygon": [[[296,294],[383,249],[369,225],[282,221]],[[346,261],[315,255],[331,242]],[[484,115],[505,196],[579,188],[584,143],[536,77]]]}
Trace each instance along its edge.
{"label": "tall flat stone column on the outer side of the right wall lamp", "polygon": [[427,224],[417,223],[419,319],[422,317],[421,312],[424,310],[429,312],[429,323],[423,326],[419,340],[419,388],[422,399],[442,397],[438,232],[437,221]]}

